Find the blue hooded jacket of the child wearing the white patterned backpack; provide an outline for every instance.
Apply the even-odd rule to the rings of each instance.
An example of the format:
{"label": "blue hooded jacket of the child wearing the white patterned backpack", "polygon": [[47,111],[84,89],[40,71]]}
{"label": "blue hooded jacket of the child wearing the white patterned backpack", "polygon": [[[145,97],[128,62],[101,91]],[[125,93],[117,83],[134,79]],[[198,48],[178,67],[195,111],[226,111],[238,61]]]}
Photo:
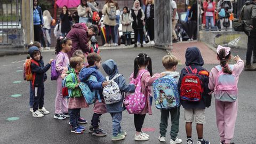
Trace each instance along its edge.
{"label": "blue hooded jacket of the child wearing the white patterned backpack", "polygon": [[[102,67],[105,71],[105,73],[109,76],[109,79],[114,78],[115,75],[118,74],[118,69],[116,62],[114,60],[107,60],[102,64]],[[124,93],[123,92],[134,92],[135,91],[135,85],[133,84],[125,84],[125,78],[123,75],[118,76],[114,80],[119,90],[122,92],[123,99],[121,99],[119,102],[112,103],[112,104],[106,104],[108,113],[119,113],[125,110],[125,107],[123,107],[123,100],[124,100]]]}

